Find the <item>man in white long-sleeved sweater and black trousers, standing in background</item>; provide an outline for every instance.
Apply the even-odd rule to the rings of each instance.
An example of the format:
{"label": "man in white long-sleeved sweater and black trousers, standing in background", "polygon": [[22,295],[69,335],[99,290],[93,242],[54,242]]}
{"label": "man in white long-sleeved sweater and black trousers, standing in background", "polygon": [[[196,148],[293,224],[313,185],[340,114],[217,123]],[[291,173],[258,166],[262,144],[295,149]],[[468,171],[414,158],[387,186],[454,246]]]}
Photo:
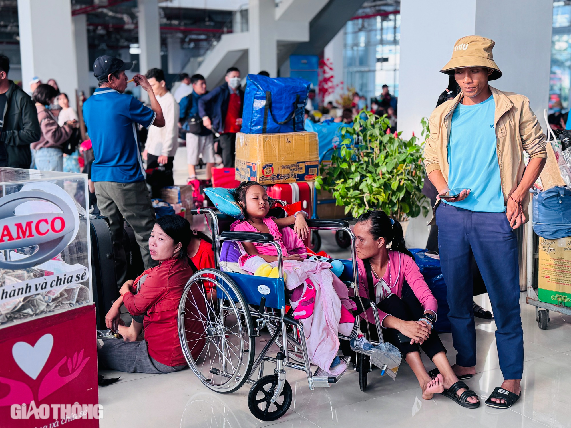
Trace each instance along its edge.
{"label": "man in white long-sleeved sweater and black trousers, standing in background", "polygon": [[151,125],[143,151],[143,159],[147,160],[147,183],[151,186],[152,197],[160,197],[160,189],[174,185],[172,161],[178,148],[179,106],[166,88],[163,70],[151,68],[145,77],[163,110],[165,122],[161,128]]}

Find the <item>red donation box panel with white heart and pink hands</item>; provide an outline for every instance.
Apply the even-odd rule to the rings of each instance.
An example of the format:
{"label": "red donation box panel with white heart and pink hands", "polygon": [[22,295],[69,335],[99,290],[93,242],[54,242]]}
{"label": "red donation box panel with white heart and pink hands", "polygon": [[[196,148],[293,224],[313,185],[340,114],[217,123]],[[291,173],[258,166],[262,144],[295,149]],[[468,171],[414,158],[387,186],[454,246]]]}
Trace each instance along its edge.
{"label": "red donation box panel with white heart and pink hands", "polygon": [[0,356],[2,428],[99,426],[95,305],[1,329]]}

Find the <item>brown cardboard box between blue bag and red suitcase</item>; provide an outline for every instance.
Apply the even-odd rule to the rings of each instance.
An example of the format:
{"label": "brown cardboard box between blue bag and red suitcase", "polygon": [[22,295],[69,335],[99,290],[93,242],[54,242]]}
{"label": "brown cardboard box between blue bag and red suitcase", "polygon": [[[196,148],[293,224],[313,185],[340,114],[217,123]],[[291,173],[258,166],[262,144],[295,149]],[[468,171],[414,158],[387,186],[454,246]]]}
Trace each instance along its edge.
{"label": "brown cardboard box between blue bag and red suitcase", "polygon": [[319,174],[316,132],[236,134],[236,180],[260,184],[313,181]]}

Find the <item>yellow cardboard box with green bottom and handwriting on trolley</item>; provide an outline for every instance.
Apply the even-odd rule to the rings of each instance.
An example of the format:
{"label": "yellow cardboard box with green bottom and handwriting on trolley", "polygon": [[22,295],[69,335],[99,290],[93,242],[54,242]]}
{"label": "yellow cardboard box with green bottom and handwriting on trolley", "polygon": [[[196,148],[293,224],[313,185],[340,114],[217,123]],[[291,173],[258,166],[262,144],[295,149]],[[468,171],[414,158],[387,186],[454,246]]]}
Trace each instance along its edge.
{"label": "yellow cardboard box with green bottom and handwriting on trolley", "polygon": [[571,236],[539,239],[539,300],[571,307]]}

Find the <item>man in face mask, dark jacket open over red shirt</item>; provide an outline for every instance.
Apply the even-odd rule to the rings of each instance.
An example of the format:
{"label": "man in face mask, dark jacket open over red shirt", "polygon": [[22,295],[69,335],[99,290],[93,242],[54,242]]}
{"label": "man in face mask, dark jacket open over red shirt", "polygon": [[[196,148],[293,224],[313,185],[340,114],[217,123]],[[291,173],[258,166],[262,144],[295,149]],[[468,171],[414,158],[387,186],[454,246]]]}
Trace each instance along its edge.
{"label": "man in face mask, dark jacket open over red shirt", "polygon": [[222,149],[224,167],[234,168],[236,133],[242,127],[244,104],[240,70],[236,67],[228,68],[225,80],[226,83],[198,100],[198,113],[204,127],[220,134],[219,148]]}

